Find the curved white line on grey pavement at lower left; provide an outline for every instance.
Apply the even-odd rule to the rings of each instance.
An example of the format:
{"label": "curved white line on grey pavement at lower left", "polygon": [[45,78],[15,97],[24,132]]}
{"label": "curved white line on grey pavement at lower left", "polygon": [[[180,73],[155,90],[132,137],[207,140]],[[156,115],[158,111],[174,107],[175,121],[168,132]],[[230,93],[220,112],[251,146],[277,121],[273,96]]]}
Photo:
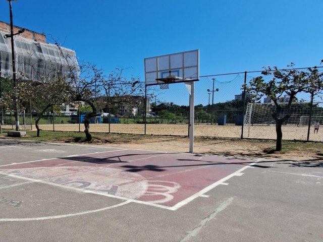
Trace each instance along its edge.
{"label": "curved white line on grey pavement at lower left", "polygon": [[89,213],[101,212],[101,211],[104,211],[104,210],[117,208],[117,207],[126,205],[128,203],[130,203],[130,201],[125,201],[123,203],[119,203],[119,204],[109,206],[109,207],[105,207],[105,208],[100,208],[100,209],[95,209],[95,210],[88,210],[88,211],[84,211],[84,212],[80,212],[80,213],[56,215],[56,216],[37,217],[37,218],[0,218],[0,222],[7,222],[7,221],[35,221],[35,220],[45,220],[45,219],[55,219],[55,218],[67,218],[67,217],[72,217],[72,216],[78,216],[78,215],[84,215],[84,214],[89,214]]}

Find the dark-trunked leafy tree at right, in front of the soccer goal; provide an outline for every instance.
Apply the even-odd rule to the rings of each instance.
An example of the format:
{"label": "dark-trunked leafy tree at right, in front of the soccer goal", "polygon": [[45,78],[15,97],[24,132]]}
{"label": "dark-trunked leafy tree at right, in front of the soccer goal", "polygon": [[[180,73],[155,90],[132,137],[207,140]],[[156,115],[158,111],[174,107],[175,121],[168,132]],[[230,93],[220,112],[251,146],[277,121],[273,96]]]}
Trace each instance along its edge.
{"label": "dark-trunked leafy tree at right, in front of the soccer goal", "polygon": [[[288,68],[294,64],[288,65]],[[260,100],[264,95],[270,97],[275,107],[272,109],[272,116],[276,121],[276,151],[282,150],[282,124],[291,116],[291,105],[296,100],[296,95],[300,92],[317,93],[323,89],[323,74],[319,73],[317,68],[308,68],[306,70],[283,69],[277,67],[266,67],[261,72],[263,76],[272,77],[266,81],[263,76],[255,77],[249,82],[246,89],[254,94],[255,100]],[[283,114],[280,98],[284,94],[289,95],[287,104],[287,113]]]}

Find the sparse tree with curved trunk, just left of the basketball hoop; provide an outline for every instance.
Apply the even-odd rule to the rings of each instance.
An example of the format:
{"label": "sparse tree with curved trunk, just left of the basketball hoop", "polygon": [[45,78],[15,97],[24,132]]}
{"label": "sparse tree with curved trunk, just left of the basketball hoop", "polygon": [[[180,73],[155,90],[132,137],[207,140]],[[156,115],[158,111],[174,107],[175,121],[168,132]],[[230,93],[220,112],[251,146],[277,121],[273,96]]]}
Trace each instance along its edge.
{"label": "sparse tree with curved trunk, just left of the basketball hoop", "polygon": [[[62,51],[62,56],[68,59],[60,44],[56,42],[56,45]],[[67,63],[69,64],[68,61]],[[109,75],[105,75],[102,69],[87,62],[79,62],[77,69],[70,66],[71,100],[83,101],[92,108],[92,111],[86,113],[84,117],[84,133],[87,141],[92,140],[90,119],[101,115],[103,109],[112,104],[112,100],[114,103],[122,103],[129,102],[132,96],[139,93],[143,96],[144,88],[139,78],[131,78],[128,81],[123,77],[123,71],[123,68],[116,68]],[[111,98],[111,93],[118,98]]]}

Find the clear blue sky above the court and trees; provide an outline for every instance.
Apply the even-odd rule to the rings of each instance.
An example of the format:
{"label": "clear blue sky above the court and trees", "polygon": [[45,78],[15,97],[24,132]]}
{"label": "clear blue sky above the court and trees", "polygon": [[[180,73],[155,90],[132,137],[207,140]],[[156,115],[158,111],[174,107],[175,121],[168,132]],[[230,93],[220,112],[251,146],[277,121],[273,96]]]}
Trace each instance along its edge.
{"label": "clear blue sky above the court and trees", "polygon": [[[318,66],[323,58],[322,0],[17,0],[12,6],[15,25],[64,42],[106,73],[129,68],[125,75],[142,81],[145,57],[192,49],[200,50],[201,76],[291,62]],[[0,9],[0,20],[9,22],[8,2],[1,0]],[[181,104],[174,93],[183,89],[187,104],[178,85],[164,99]],[[211,81],[196,83],[195,104],[207,104],[208,88]],[[220,90],[221,100],[239,88]]]}

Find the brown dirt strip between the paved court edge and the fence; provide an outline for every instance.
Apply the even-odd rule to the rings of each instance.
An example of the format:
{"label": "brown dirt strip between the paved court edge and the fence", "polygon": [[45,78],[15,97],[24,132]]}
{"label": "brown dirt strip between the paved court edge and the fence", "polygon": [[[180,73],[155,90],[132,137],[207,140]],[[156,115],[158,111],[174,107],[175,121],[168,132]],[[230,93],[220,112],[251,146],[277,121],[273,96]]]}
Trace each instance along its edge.
{"label": "brown dirt strip between the paved court edge and the fence", "polygon": [[[189,138],[143,135],[111,135],[108,138],[98,138],[93,134],[91,144],[105,145],[129,149],[189,152]],[[75,139],[62,138],[59,142],[75,143]],[[289,142],[285,144],[293,144]],[[319,148],[293,150],[288,152],[266,151],[276,147],[275,141],[247,139],[194,139],[193,152],[196,154],[212,154],[234,157],[252,157],[259,159],[275,159],[282,161],[310,162],[323,165],[323,153]],[[321,146],[320,146],[321,147]]]}

